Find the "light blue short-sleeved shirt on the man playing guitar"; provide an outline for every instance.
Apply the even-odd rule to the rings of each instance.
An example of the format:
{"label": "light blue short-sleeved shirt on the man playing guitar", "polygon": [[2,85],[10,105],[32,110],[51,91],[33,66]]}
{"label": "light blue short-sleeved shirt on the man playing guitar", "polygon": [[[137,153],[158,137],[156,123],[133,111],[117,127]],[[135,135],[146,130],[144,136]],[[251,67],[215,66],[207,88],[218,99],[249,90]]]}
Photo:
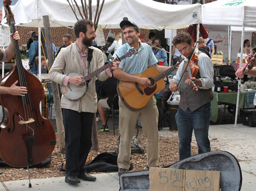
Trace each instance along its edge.
{"label": "light blue short-sleeved shirt on the man playing guitar", "polygon": [[[128,74],[140,74],[144,72],[148,66],[156,64],[158,61],[151,50],[151,47],[146,43],[141,43],[138,53],[121,60],[119,68]],[[116,55],[121,57],[127,53],[132,47],[126,43],[117,49]]]}

